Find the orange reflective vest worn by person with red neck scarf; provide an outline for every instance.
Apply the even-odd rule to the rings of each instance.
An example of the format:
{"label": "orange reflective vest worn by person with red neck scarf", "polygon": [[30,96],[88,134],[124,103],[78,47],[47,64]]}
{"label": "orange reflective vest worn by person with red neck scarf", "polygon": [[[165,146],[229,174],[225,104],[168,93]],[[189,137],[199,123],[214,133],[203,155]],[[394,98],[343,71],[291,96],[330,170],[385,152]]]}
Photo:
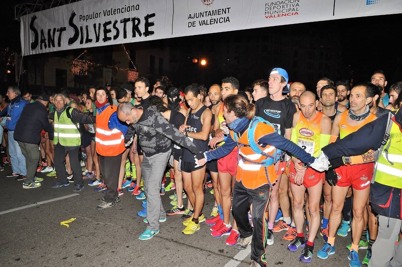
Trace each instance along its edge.
{"label": "orange reflective vest worn by person with red neck scarf", "polygon": [[96,114],[96,152],[102,156],[117,156],[123,151],[124,147],[124,135],[123,133],[114,128],[109,129],[109,119],[114,112],[117,111],[117,107],[108,106],[100,114]]}

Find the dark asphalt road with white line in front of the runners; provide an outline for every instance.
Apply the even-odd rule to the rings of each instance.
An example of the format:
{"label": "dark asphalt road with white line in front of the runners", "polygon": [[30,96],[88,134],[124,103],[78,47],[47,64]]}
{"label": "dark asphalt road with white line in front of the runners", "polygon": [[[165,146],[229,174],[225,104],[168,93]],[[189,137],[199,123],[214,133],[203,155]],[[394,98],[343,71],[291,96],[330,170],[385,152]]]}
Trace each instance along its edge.
{"label": "dark asphalt road with white line in front of the runners", "polygon": [[[209,226],[201,224],[195,234],[181,233],[184,226],[180,215],[168,216],[161,223],[160,232],[148,241],[138,240],[146,224],[136,212],[141,210],[141,200],[136,200],[124,190],[121,201],[114,207],[98,211],[103,193],[93,192],[95,187],[84,181],[85,188],[79,194],[38,204],[45,200],[74,194],[74,185],[51,188],[55,178],[44,178],[42,186],[23,189],[22,181],[5,177],[11,171],[6,166],[0,172],[2,202],[0,206],[0,265],[1,266],[226,266],[247,267],[250,248],[239,251],[224,244],[226,236],[213,238]],[[166,183],[168,184],[168,183]],[[165,210],[170,209],[168,196],[162,196]],[[28,208],[1,214],[1,212],[32,205]],[[36,205],[35,205],[36,204]],[[203,211],[209,215],[213,207],[213,195],[207,193]],[[208,216],[209,217],[209,216]],[[61,221],[76,218],[70,227]],[[267,247],[268,266],[307,266],[298,261],[301,250],[292,253],[286,249],[289,241],[282,240],[284,232],[274,233],[275,243]],[[314,255],[311,266],[349,266],[347,237],[336,238],[336,254],[327,260]],[[316,249],[324,245],[320,235],[316,237]],[[239,254],[238,254],[239,253]],[[362,260],[365,250],[359,252]]]}

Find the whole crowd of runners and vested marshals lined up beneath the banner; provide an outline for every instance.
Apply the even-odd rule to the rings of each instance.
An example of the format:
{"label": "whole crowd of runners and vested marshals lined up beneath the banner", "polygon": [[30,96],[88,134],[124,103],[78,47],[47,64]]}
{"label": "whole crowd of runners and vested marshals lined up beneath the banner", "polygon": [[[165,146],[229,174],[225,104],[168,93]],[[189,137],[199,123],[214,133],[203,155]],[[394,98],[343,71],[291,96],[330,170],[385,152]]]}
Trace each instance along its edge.
{"label": "whole crowd of runners and vested marshals lined up beneath the banner", "polygon": [[[352,236],[351,267],[402,266],[402,82],[387,93],[384,71],[367,80],[323,77],[306,90],[274,68],[246,87],[235,77],[209,88],[139,77],[134,86],[90,86],[79,96],[62,89],[36,100],[10,86],[0,94],[0,168],[10,164],[6,176],[24,189],[41,186],[38,172],[57,176],[55,190],[90,185],[105,193],[97,210],[131,194],[147,223],[140,240],[181,216],[183,234],[210,227],[222,244],[251,245],[250,266],[267,266],[273,232],[304,263],[331,259],[335,236]],[[209,193],[214,205],[205,210]]]}

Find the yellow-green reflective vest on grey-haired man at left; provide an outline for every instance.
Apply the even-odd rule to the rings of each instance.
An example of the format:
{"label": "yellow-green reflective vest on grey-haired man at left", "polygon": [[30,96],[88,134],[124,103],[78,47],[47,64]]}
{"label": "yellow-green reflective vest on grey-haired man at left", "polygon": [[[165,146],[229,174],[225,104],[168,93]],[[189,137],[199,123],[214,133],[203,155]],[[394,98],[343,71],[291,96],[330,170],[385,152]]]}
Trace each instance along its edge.
{"label": "yellow-green reflective vest on grey-haired man at left", "polygon": [[77,126],[67,117],[68,112],[72,112],[72,108],[66,108],[60,117],[57,116],[57,111],[54,114],[54,140],[56,145],[60,143],[65,147],[77,147],[81,145],[81,135]]}

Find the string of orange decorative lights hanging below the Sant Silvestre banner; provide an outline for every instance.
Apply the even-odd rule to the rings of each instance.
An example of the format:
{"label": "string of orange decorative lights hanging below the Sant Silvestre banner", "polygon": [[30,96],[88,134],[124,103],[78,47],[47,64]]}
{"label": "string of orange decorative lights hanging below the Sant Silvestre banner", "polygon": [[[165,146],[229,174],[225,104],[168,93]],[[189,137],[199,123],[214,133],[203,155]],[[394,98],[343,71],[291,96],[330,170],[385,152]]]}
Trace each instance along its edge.
{"label": "string of orange decorative lights hanging below the Sant Silvestre banner", "polygon": [[138,78],[139,73],[138,73],[137,68],[135,67],[133,61],[131,60],[130,55],[127,53],[127,50],[125,49],[124,45],[121,44],[121,46],[123,47],[124,52],[127,55],[127,58],[129,59],[131,64],[133,64],[134,69],[120,68],[120,67],[105,65],[105,64],[98,64],[98,63],[90,62],[88,60],[79,59],[82,55],[84,55],[85,53],[88,52],[88,50],[84,50],[78,57],[73,59],[72,65],[71,65],[71,72],[74,75],[88,75],[88,66],[106,67],[109,69],[115,69],[117,71],[127,71],[127,80],[129,82],[134,82]]}

